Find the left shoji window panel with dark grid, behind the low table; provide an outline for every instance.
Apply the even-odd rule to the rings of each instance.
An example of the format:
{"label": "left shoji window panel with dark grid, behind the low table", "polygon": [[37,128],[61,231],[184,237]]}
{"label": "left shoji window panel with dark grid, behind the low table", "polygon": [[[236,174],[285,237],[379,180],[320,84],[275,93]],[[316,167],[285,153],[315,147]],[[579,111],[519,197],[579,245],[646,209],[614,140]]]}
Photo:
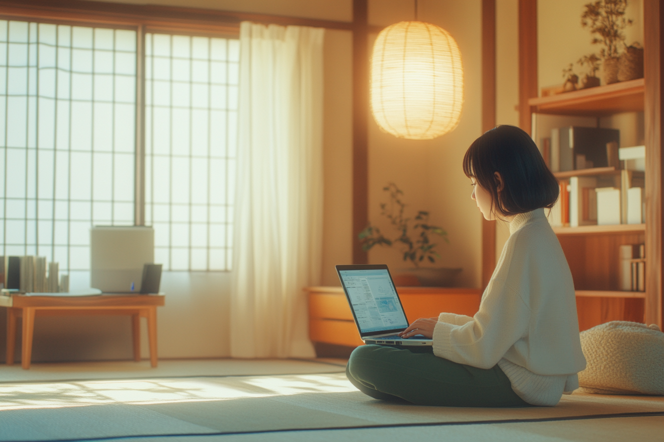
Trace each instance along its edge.
{"label": "left shoji window panel with dark grid, behind the low table", "polygon": [[135,63],[133,30],[0,21],[3,254],[76,285],[90,227],[133,224]]}

